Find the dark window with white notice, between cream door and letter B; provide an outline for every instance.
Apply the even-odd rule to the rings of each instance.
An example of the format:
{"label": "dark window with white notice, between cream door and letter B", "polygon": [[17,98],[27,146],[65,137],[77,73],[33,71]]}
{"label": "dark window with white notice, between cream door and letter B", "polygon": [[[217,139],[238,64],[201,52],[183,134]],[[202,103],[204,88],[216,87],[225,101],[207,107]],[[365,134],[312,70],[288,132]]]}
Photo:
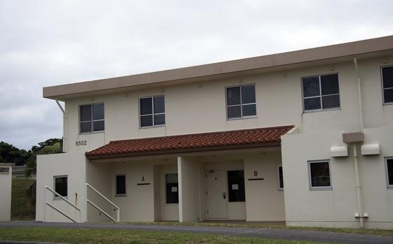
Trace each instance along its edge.
{"label": "dark window with white notice, between cream door and letter B", "polygon": [[244,191],[244,171],[228,171],[229,202],[246,201]]}

